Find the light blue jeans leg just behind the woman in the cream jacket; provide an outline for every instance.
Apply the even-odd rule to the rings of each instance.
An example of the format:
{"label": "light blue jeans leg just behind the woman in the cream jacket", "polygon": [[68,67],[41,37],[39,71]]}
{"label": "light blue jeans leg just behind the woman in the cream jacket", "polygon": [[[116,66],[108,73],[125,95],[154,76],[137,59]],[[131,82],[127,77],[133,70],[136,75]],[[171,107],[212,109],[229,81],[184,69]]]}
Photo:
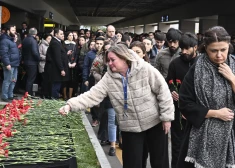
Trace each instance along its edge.
{"label": "light blue jeans leg just behind the woman in the cream jacket", "polygon": [[116,142],[117,126],[115,124],[115,111],[113,108],[108,109],[108,134],[109,142]]}

